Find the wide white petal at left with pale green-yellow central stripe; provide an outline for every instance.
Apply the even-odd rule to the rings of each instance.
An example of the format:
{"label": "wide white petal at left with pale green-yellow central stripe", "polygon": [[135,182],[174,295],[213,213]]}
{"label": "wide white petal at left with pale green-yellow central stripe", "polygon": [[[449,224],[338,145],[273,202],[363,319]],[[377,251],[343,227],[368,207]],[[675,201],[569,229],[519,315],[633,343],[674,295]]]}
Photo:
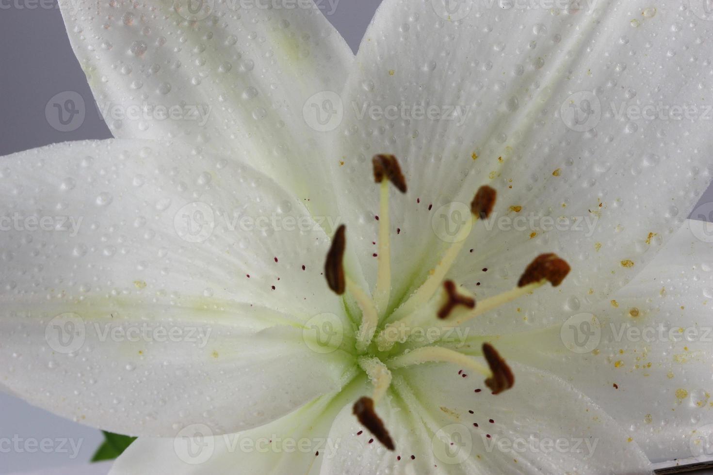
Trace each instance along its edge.
{"label": "wide white petal at left with pale green-yellow central stripe", "polygon": [[173,435],[176,422],[269,422],[339,386],[342,352],[312,338],[316,321],[351,328],[321,275],[329,242],[275,182],[142,140],[1,160],[11,391],[115,432]]}

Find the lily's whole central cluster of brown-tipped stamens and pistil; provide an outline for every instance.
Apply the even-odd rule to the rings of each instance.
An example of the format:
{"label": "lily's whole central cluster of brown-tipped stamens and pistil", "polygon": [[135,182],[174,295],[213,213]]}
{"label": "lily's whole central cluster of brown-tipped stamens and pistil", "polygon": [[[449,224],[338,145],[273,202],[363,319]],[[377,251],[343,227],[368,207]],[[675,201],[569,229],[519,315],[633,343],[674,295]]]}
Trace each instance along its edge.
{"label": "lily's whole central cluster of brown-tipped stamens and pistil", "polygon": [[[446,250],[426,281],[391,315],[386,315],[391,297],[389,182],[401,193],[406,193],[407,187],[399,161],[394,155],[376,155],[372,165],[374,181],[380,184],[381,197],[376,287],[369,296],[344,272],[344,251],[347,249],[347,232],[344,225],[339,226],[332,239],[332,246],[324,265],[324,276],[332,291],[340,296],[348,294],[361,309],[361,325],[356,333],[356,353],[359,355],[357,362],[369,377],[374,390],[371,397],[361,397],[356,401],[354,415],[381,444],[384,444],[384,447],[394,450],[394,441],[374,409],[391,386],[392,370],[426,362],[450,362],[481,373],[486,377],[486,385],[494,395],[510,389],[515,384],[515,377],[510,367],[490,343],[484,343],[482,347],[482,355],[488,363],[486,366],[471,356],[438,345],[438,337],[427,341],[425,345],[414,342],[411,338],[414,335],[413,330],[429,328],[437,330],[434,332],[435,335],[444,335],[447,330],[463,325],[477,318],[478,315],[520,296],[525,296],[548,281],[553,287],[559,286],[569,273],[570,266],[555,254],[542,254],[525,268],[515,288],[476,304],[474,296],[459,289],[453,281],[446,279],[473,227],[463,226],[461,228],[463,235],[457,236],[458,239]],[[472,224],[490,216],[496,197],[496,190],[487,185],[478,189],[471,202]],[[386,320],[389,323],[380,328],[382,321]],[[397,345],[404,343],[411,343],[409,349],[399,351]]]}

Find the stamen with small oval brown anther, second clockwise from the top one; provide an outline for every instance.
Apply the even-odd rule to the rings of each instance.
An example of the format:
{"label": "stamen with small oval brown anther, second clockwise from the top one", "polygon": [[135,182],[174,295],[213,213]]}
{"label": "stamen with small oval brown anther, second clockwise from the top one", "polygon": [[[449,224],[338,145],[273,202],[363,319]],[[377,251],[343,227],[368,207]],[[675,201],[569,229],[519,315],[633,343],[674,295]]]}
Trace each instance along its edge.
{"label": "stamen with small oval brown anther, second clockwise from the top one", "polygon": [[[473,199],[473,204],[471,205],[471,211],[478,212],[478,214],[471,216],[473,222],[475,222],[481,215],[488,216],[490,214],[493,210],[495,199],[496,191],[491,187],[483,186],[478,189],[476,197]],[[446,277],[446,273],[451,270],[453,262],[456,261],[458,254],[461,253],[461,249],[463,249],[463,246],[466,244],[470,228],[468,226],[463,226],[461,231],[463,231],[463,234],[465,235],[457,236],[456,242],[451,244],[451,247],[448,248],[446,254],[443,254],[443,258],[441,258],[441,261],[438,262],[433,273],[426,278],[426,281],[411,295],[408,301],[394,310],[394,313],[392,314],[393,320],[400,320],[401,318],[404,318],[404,315],[413,313],[416,308],[423,306],[426,301],[429,301],[429,299],[434,296],[438,286],[441,285],[441,282],[443,282],[443,279]]]}

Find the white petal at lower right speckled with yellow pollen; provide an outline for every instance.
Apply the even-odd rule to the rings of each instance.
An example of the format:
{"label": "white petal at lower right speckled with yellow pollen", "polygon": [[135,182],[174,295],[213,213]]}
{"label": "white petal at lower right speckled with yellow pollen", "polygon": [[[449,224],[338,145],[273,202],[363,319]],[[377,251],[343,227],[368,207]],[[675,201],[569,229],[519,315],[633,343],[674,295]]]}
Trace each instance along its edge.
{"label": "white petal at lower right speckled with yellow pollen", "polygon": [[555,372],[592,397],[654,461],[709,454],[699,437],[713,432],[713,245],[690,224],[701,225],[689,221],[611,302],[582,309],[597,318],[588,318],[595,330],[583,333],[576,317],[496,343],[506,359]]}

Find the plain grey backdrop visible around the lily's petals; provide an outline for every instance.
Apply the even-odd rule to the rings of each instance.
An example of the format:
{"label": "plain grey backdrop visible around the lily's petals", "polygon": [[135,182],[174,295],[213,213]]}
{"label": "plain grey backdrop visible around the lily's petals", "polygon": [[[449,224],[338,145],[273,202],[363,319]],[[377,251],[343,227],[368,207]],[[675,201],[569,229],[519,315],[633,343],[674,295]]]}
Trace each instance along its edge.
{"label": "plain grey backdrop visible around the lily's petals", "polygon": [[[379,3],[381,0],[339,0],[328,17],[354,51]],[[53,95],[73,90],[91,104],[91,91],[69,46],[59,9],[17,8],[15,4],[29,6],[32,2],[0,0],[0,6],[11,6],[0,8],[0,156],[54,142],[111,137],[93,107],[86,108],[83,124],[73,132],[58,132],[48,124],[45,105]],[[713,187],[701,200],[710,201]],[[76,458],[67,453],[0,451],[0,474],[84,464],[102,439],[96,429],[0,394],[0,437],[14,436],[71,438],[75,444],[81,442],[81,450]]]}

